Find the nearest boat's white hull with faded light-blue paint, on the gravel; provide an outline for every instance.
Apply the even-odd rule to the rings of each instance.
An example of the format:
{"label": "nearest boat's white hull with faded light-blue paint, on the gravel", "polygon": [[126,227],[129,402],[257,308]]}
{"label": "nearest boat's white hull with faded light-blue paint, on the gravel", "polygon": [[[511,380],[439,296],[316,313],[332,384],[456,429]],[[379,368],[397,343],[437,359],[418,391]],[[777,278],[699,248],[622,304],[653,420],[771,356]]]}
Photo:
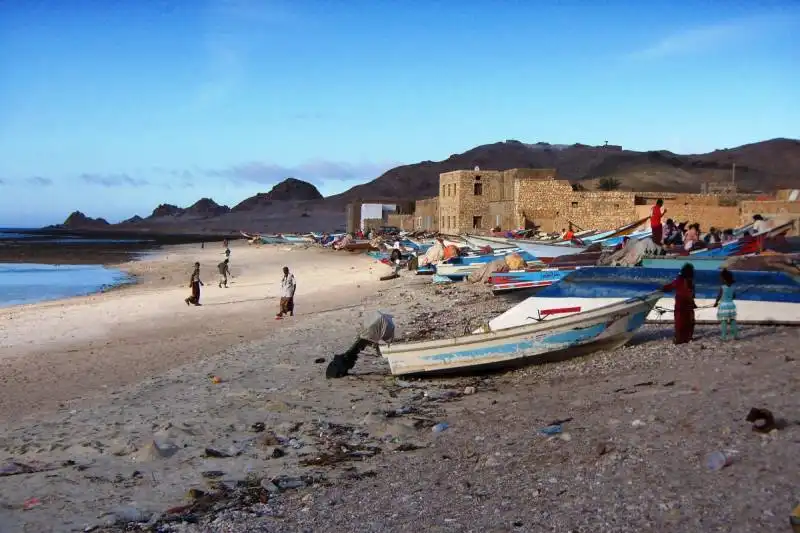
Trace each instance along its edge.
{"label": "nearest boat's white hull with faded light-blue paint, on the gravel", "polygon": [[392,374],[438,374],[563,361],[628,342],[660,294],[547,322],[381,348]]}

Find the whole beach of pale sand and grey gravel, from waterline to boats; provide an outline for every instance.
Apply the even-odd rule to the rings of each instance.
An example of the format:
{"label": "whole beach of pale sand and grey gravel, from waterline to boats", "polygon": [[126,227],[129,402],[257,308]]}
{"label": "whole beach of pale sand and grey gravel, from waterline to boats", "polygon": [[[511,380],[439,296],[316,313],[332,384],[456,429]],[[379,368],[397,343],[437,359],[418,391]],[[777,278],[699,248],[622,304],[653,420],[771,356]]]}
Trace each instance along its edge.
{"label": "whole beach of pale sand and grey gravel, from waterline to boats", "polygon": [[[219,289],[221,252],[170,247],[122,266],[134,287],[0,311],[0,532],[789,528],[796,329],[723,344],[703,327],[674,346],[646,326],[614,352],[451,379],[395,379],[368,353],[326,380],[316,361],[374,310],[403,340],[461,334],[511,303],[379,282],[386,267],[364,256],[245,243]],[[189,308],[195,260],[204,305]],[[284,265],[297,316],[275,321]],[[786,426],[754,432],[752,407]],[[563,433],[538,433],[554,421]],[[715,451],[730,466],[708,470]]]}

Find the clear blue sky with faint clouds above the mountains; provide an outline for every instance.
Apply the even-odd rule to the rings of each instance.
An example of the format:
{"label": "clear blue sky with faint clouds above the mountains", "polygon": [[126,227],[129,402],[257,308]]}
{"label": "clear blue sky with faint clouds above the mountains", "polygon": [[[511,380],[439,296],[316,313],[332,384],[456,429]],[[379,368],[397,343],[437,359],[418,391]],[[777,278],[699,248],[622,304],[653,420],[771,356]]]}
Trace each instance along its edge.
{"label": "clear blue sky with faint clouds above the mountains", "polygon": [[4,0],[0,225],[335,194],[479,144],[800,137],[795,0]]}

